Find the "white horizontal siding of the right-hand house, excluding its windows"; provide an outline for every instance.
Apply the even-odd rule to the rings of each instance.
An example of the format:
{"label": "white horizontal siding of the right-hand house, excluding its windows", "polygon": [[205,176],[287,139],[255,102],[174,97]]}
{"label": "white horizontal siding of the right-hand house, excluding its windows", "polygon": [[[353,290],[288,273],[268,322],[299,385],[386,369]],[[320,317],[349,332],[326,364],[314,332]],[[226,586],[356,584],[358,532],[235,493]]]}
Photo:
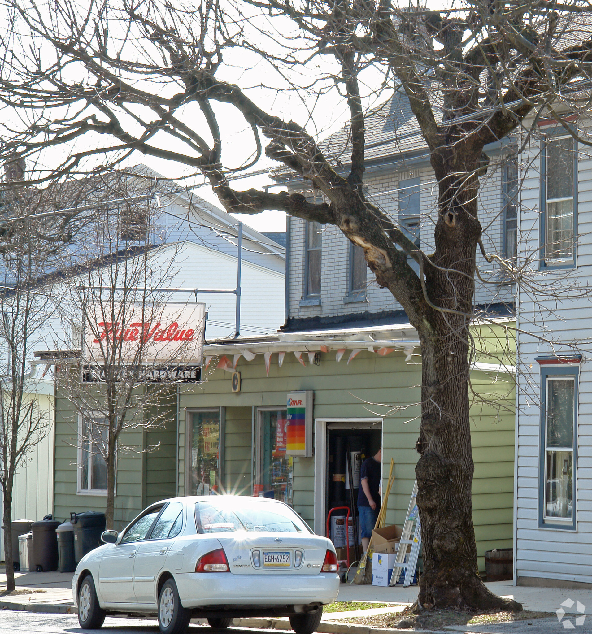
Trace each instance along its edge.
{"label": "white horizontal siding of the right-hand house, excluding its windows", "polygon": [[[541,152],[532,143],[522,158],[520,186],[518,261],[541,248]],[[530,292],[519,297],[517,346],[520,350],[517,387],[517,459],[515,566],[520,578],[544,578],[592,583],[592,367],[591,354],[582,352],[577,381],[577,467],[574,475],[574,501],[577,531],[539,527],[539,467],[541,451],[541,375],[537,356],[569,357],[571,342],[589,340],[590,301],[570,297],[570,285],[590,284],[592,277],[592,150],[581,147],[575,161],[577,183],[575,225],[577,268],[538,271],[531,260],[526,275],[564,289],[558,302],[552,293],[535,300]],[[538,277],[537,277],[538,276]],[[545,339],[553,340],[553,345]]]}

